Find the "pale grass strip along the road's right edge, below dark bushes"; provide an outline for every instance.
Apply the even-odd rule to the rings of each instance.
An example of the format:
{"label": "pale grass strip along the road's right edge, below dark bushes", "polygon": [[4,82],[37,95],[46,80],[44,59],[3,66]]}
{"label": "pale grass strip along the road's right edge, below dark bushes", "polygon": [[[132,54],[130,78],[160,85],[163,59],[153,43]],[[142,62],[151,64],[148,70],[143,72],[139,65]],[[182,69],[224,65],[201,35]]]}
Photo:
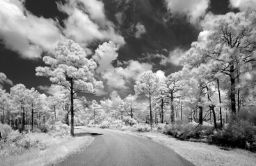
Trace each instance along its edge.
{"label": "pale grass strip along the road's right edge, below dark bushes", "polygon": [[[118,130],[114,130],[118,131]],[[120,130],[119,132],[140,136],[158,142],[159,144],[173,149],[177,154],[189,160],[196,166],[212,165],[243,165],[255,166],[256,154],[243,149],[223,149],[216,145],[208,145],[204,142],[191,142],[177,140],[162,133],[150,131],[139,133],[132,129]]]}

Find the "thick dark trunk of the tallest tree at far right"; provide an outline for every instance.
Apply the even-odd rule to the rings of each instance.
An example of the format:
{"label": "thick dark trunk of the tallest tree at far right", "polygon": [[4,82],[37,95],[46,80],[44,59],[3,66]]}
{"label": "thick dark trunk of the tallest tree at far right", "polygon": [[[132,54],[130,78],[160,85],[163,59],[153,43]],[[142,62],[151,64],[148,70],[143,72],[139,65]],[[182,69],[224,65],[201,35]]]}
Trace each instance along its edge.
{"label": "thick dark trunk of the tallest tree at far right", "polygon": [[231,102],[231,118],[232,120],[236,120],[236,92],[235,92],[234,65],[230,66],[230,102]]}

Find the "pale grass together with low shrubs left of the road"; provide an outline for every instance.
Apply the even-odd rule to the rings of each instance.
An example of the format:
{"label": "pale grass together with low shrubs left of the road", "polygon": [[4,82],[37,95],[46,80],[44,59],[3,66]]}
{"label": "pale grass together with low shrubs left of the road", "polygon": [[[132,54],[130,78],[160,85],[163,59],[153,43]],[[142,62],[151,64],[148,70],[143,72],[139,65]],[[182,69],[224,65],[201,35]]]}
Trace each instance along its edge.
{"label": "pale grass together with low shrubs left of the road", "polygon": [[70,136],[70,127],[61,122],[35,128],[33,133],[20,133],[0,124],[0,131],[1,166],[59,163],[93,142],[90,136]]}

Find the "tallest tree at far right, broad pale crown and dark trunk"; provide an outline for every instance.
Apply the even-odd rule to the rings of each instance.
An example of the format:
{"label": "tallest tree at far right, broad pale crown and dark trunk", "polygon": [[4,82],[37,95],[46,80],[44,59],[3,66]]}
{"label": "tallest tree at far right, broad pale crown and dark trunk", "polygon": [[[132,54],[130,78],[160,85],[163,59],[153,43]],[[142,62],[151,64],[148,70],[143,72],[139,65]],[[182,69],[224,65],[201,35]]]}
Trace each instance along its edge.
{"label": "tallest tree at far right, broad pale crown and dark trunk", "polygon": [[[218,71],[230,78],[230,108],[236,119],[239,102],[239,76],[256,61],[256,25],[245,13],[232,12],[217,19],[207,37],[207,56],[214,59]],[[236,100],[237,94],[237,100]],[[237,104],[238,102],[238,104]]]}

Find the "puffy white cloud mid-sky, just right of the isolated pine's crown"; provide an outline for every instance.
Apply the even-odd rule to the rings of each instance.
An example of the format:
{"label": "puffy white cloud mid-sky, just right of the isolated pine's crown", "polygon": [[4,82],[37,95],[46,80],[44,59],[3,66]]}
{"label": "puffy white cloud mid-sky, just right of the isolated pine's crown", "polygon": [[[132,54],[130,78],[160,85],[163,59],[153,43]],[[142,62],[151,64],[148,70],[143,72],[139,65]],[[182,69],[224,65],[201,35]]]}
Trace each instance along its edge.
{"label": "puffy white cloud mid-sky, just right of the isolated pine's crown", "polygon": [[129,80],[138,80],[138,75],[144,71],[152,69],[151,64],[140,63],[138,61],[130,60],[128,62],[119,62],[125,64],[125,67],[113,66],[113,61],[118,58],[118,47],[113,42],[105,42],[99,45],[95,50],[93,59],[98,62],[97,73],[102,75],[106,80],[106,84],[113,89],[128,89],[127,82]]}

